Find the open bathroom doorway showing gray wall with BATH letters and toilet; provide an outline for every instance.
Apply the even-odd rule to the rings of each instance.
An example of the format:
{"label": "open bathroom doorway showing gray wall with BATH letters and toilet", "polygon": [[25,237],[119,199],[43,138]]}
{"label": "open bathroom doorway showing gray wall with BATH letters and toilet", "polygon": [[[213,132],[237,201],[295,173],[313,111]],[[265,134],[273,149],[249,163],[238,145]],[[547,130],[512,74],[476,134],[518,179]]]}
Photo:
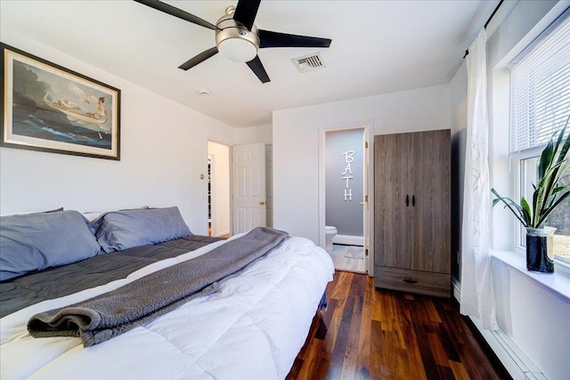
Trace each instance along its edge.
{"label": "open bathroom doorway showing gray wall with BATH letters and toilet", "polygon": [[368,271],[365,126],[324,131],[324,247],[338,271]]}

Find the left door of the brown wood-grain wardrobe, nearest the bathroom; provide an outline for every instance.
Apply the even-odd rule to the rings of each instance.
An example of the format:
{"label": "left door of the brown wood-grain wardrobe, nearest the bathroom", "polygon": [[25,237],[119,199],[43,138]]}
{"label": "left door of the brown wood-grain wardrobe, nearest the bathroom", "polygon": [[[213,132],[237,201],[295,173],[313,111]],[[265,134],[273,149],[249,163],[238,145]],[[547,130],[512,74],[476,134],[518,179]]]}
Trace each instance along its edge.
{"label": "left door of the brown wood-grain wardrobe, nearest the bathroom", "polygon": [[[374,262],[410,268],[411,133],[374,137]],[[406,196],[408,196],[406,206]]]}

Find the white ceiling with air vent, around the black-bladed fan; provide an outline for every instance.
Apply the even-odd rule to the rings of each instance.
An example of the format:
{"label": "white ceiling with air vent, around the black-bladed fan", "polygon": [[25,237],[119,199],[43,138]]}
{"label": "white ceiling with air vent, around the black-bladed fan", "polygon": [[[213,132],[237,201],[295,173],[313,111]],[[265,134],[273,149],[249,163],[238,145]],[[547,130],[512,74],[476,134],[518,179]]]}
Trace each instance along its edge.
{"label": "white ceiling with air vent, around the black-bladed fan", "polygon": [[[236,1],[167,1],[215,24]],[[272,112],[449,83],[498,0],[261,2],[258,28],[329,37],[329,49],[267,48],[271,82],[221,54],[177,67],[216,45],[214,31],[134,1],[0,2],[2,28],[52,46],[235,127]],[[18,46],[14,46],[18,47]],[[293,58],[321,52],[325,69],[301,74]],[[54,62],[58,63],[58,62]],[[96,78],[95,78],[96,79]],[[113,84],[109,84],[113,85]],[[205,88],[210,96],[200,96]]]}

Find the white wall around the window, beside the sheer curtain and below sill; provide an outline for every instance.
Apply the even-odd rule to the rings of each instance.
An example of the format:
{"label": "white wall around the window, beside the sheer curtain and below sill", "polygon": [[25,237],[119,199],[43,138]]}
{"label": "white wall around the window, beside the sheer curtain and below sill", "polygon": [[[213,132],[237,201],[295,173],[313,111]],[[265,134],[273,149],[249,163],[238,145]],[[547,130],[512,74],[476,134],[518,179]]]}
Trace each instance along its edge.
{"label": "white wall around the window, beside the sheer curtain and below sill", "polygon": [[[568,5],[569,2],[557,1],[518,2],[489,37],[487,82],[491,121],[491,185],[509,197],[513,193],[514,177],[509,170],[509,73],[505,66]],[[450,83],[452,128],[457,131],[452,141],[463,156],[465,146],[461,134],[467,125],[466,94],[467,71],[463,64]],[[460,166],[458,174],[461,203],[462,168]],[[515,218],[501,207],[493,209],[492,218],[493,248],[512,250]],[[570,373],[570,361],[567,360],[570,301],[543,287],[527,276],[525,271],[518,271],[500,260],[493,259],[492,270],[497,320],[511,339],[511,344],[523,352],[547,378],[566,379]],[[555,274],[559,275],[562,273]],[[501,360],[510,360],[505,352],[498,351],[497,355]],[[506,366],[509,368],[509,365]]]}

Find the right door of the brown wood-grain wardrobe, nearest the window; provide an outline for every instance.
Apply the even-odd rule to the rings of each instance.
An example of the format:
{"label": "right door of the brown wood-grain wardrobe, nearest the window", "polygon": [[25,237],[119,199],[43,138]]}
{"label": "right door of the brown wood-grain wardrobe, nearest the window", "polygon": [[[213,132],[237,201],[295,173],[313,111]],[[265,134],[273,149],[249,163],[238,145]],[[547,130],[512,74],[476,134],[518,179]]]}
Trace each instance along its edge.
{"label": "right door of the brown wood-grain wardrobe, nearest the window", "polygon": [[413,133],[411,269],[450,273],[451,133]]}

